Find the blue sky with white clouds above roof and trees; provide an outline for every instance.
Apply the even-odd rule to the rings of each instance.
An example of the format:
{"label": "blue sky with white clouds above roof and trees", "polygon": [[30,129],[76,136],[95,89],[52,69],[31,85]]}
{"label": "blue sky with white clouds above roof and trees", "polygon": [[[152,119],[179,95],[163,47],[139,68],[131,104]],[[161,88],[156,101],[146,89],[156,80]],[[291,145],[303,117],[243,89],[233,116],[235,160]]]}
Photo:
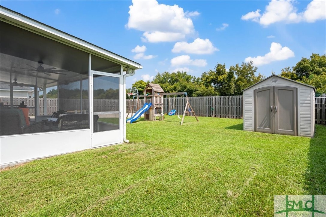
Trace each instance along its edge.
{"label": "blue sky with white clouds above roof and trees", "polygon": [[228,68],[250,60],[269,76],[326,52],[326,1],[2,0],[1,5],[141,63],[127,87],[157,72],[179,69],[198,77],[217,63]]}

